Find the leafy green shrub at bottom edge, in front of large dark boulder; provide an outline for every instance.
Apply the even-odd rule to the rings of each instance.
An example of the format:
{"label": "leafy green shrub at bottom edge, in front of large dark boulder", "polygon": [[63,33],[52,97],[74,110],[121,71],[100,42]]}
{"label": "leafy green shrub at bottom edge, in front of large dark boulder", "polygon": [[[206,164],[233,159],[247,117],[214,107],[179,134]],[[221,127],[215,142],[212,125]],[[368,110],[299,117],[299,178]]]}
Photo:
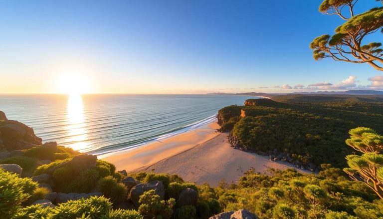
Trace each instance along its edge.
{"label": "leafy green shrub at bottom edge, in front of large dark boulder", "polygon": [[176,200],[171,198],[168,201],[160,200],[154,190],[149,190],[140,196],[141,206],[138,211],[148,218],[170,219],[173,215],[173,207]]}

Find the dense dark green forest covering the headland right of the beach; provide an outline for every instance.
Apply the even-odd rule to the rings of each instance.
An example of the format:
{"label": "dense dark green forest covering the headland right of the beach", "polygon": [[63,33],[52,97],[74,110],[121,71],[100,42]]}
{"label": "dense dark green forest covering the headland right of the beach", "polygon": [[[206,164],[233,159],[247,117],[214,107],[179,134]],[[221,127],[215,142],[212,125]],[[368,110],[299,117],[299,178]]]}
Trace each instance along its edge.
{"label": "dense dark green forest covering the headland right of the beach", "polygon": [[[383,133],[381,96],[281,95],[252,100],[218,112],[222,129],[231,130],[244,147],[290,153],[293,159],[320,165],[346,166],[352,153],[344,141],[358,126]],[[260,104],[258,104],[260,102]],[[242,116],[240,117],[242,110]],[[223,115],[223,116],[221,116]]]}

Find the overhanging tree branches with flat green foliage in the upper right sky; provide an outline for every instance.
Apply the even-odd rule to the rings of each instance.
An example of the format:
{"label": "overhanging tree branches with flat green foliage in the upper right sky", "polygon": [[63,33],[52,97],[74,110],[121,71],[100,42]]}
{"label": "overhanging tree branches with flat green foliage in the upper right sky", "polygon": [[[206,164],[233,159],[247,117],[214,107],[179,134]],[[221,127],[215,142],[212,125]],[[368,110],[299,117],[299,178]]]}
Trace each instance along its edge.
{"label": "overhanging tree branches with flat green foliage in the upper right sky", "polygon": [[[376,1],[383,2],[383,0]],[[324,0],[322,2],[319,6],[320,12],[338,15],[346,22],[335,29],[336,33],[333,36],[321,35],[311,42],[310,48],[314,50],[314,59],[332,58],[335,61],[368,63],[375,69],[383,71],[382,43],[365,44],[363,42],[367,35],[376,33],[383,27],[383,7],[354,14],[354,6],[357,2],[358,0]]]}

